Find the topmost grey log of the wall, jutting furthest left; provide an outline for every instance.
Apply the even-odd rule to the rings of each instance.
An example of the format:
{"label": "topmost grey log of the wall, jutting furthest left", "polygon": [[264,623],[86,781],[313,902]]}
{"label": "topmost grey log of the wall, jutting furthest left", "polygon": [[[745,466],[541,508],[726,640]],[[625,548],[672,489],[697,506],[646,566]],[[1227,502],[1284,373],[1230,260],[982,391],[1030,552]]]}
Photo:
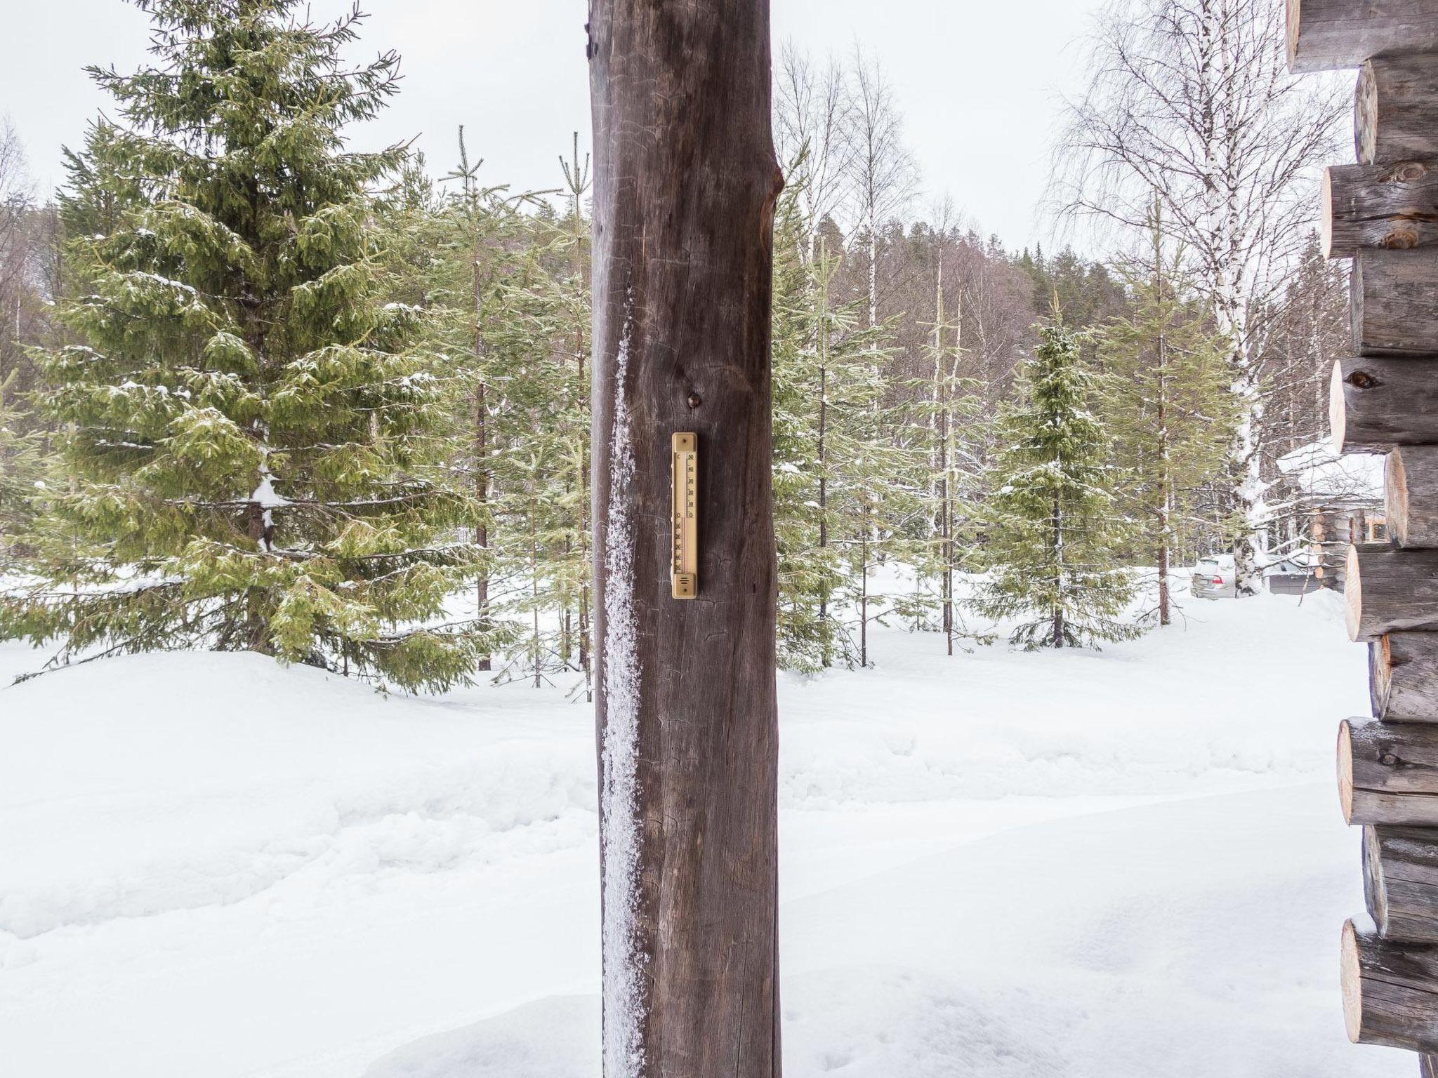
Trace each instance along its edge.
{"label": "topmost grey log of the wall, jutting furthest left", "polygon": [[1373,56],[1438,52],[1434,0],[1287,0],[1288,68],[1357,68]]}

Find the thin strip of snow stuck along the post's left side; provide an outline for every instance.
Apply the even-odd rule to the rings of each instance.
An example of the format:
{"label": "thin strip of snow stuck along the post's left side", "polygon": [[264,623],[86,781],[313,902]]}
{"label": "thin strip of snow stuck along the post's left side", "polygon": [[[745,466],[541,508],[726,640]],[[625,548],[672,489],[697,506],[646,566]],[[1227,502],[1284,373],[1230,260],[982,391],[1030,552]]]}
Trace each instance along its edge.
{"label": "thin strip of snow stuck along the post's left side", "polygon": [[604,530],[604,742],[600,799],[604,862],[604,1075],[643,1078],[638,906],[638,651],[634,618],[634,525],[624,492],[634,477],[634,446],[624,385],[633,310],[626,310],[615,358],[610,500]]}

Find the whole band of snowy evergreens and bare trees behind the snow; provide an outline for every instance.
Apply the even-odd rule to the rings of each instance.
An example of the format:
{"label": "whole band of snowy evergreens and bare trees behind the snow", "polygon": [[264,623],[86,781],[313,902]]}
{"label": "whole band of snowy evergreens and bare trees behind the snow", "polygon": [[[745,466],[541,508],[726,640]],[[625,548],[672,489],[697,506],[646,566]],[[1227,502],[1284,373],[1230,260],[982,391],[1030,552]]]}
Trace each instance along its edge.
{"label": "whole band of snowy evergreens and bare trees behind the snow", "polygon": [[[463,131],[452,167],[358,152],[345,131],[385,106],[400,63],[344,60],[361,13],[142,7],[155,59],[91,69],[115,119],[66,152],[53,200],[27,190],[17,135],[0,139],[0,635],[52,641],[52,664],[211,647],[406,688],[588,691],[578,137],[549,191],[490,183]],[[1211,33],[1232,65],[1274,46],[1250,4],[1195,4],[1228,11],[1212,26],[1183,10],[1146,0],[1096,47]],[[870,665],[876,624],[951,653],[992,619],[1022,645],[1119,640],[1169,621],[1173,566],[1299,542],[1263,490],[1326,414],[1340,283],[1296,208],[1235,218],[1153,172],[1169,165],[1122,122],[1136,91],[1103,78],[1068,134],[1106,185],[1073,187],[1067,208],[1120,224],[1094,260],[920,210],[883,69],[781,52],[785,667]],[[1215,86],[1204,101],[1231,129],[1212,138],[1260,122],[1222,95],[1268,82]],[[1309,105],[1284,116],[1309,131]],[[1297,207],[1320,135],[1245,139],[1281,177],[1244,197]],[[1241,250],[1252,230],[1258,254]],[[1136,568],[1158,581],[1137,611]]]}

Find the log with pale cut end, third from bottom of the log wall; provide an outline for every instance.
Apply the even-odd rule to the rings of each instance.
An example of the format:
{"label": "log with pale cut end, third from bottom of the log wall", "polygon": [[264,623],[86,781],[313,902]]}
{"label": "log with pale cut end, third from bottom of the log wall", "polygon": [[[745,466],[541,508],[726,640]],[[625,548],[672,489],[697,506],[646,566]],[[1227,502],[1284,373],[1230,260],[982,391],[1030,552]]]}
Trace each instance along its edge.
{"label": "log with pale cut end, third from bottom of the log wall", "polygon": [[1346,719],[1339,803],[1349,824],[1438,825],[1438,726]]}

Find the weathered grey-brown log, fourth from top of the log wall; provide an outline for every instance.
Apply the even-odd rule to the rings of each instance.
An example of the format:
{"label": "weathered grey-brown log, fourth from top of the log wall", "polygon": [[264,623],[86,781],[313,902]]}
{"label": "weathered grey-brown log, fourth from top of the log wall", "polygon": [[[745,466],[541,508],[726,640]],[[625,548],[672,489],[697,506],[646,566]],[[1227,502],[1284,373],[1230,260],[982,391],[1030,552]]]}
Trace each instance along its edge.
{"label": "weathered grey-brown log, fourth from top of the log wall", "polygon": [[1353,259],[1349,289],[1357,355],[1438,352],[1438,253],[1360,250]]}

